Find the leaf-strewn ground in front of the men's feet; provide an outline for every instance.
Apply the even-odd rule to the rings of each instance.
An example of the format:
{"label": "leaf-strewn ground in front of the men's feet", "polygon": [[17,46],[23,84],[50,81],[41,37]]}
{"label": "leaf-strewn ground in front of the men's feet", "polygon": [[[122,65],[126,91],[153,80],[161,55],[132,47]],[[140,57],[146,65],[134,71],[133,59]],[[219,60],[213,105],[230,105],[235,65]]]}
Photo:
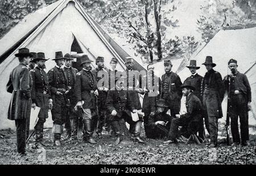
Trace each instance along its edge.
{"label": "leaf-strewn ground in front of the men's feet", "polygon": [[[51,130],[45,131],[44,138],[52,144]],[[164,144],[162,140],[152,139],[145,139],[146,144],[130,142],[115,146],[113,136],[96,139],[97,145],[79,140],[75,144],[36,150],[31,148],[31,141],[27,145],[27,156],[20,157],[16,153],[16,133],[2,130],[0,164],[256,164],[256,136],[250,136],[250,146],[220,144],[216,149],[196,144]]]}

